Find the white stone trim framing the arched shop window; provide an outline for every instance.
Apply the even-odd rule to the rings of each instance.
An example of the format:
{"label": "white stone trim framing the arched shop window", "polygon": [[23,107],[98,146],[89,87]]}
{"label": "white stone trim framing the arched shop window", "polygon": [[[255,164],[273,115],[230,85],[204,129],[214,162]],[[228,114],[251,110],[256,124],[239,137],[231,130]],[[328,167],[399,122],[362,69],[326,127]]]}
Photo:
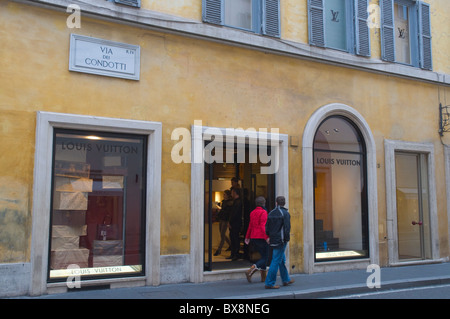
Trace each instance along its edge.
{"label": "white stone trim framing the arched shop window", "polygon": [[[376,146],[369,125],[355,109],[350,106],[332,103],[322,106],[315,111],[308,120],[303,132],[302,162],[303,162],[303,266],[306,273],[313,273],[324,268],[327,262],[314,262],[314,178],[313,178],[313,143],[314,135],[322,123],[329,116],[342,115],[351,120],[361,131],[366,143],[367,156],[367,194],[369,209],[369,251],[371,264],[379,264],[378,247],[378,196],[377,196],[377,168]],[[334,270],[352,269],[361,260],[345,262],[331,262]],[[330,263],[330,265],[331,265]],[[329,269],[329,267],[327,268]]]}

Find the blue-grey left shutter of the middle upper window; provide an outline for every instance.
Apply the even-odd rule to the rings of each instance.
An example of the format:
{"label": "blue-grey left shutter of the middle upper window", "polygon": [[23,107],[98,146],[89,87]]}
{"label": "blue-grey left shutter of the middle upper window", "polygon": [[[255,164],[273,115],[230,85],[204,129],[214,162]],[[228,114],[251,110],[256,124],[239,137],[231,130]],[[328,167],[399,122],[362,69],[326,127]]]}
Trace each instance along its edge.
{"label": "blue-grey left shutter of the middle upper window", "polygon": [[324,0],[308,0],[309,44],[319,47],[325,46],[323,1]]}

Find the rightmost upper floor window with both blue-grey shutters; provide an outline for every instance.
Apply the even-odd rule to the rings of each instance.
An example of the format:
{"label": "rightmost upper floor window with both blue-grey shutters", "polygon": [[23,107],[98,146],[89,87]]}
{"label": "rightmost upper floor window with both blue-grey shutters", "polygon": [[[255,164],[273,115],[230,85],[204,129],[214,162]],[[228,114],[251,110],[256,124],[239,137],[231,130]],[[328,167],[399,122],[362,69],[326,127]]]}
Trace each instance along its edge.
{"label": "rightmost upper floor window with both blue-grey shutters", "polygon": [[382,59],[432,69],[430,5],[381,0]]}

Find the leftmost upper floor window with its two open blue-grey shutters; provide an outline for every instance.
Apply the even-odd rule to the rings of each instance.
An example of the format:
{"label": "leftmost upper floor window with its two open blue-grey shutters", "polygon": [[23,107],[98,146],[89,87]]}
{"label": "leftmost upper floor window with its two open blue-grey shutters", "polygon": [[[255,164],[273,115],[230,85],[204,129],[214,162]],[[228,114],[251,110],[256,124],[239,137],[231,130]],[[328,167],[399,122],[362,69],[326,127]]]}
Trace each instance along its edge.
{"label": "leftmost upper floor window with its two open blue-grey shutters", "polygon": [[203,0],[203,21],[280,36],[280,0]]}

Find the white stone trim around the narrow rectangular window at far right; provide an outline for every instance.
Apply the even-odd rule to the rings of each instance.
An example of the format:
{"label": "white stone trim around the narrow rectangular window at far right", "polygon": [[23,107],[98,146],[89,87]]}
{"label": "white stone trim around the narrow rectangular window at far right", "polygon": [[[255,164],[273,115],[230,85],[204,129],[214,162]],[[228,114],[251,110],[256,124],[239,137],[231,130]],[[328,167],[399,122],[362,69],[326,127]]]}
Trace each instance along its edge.
{"label": "white stone trim around the narrow rectangular window at far right", "polygon": [[395,265],[398,259],[398,232],[397,232],[397,196],[395,182],[395,152],[422,153],[427,156],[428,187],[430,209],[430,233],[432,260],[439,259],[439,230],[437,219],[436,177],[434,162],[434,145],[432,143],[415,143],[405,141],[384,141],[385,173],[386,173],[386,214],[388,234],[389,265]]}

